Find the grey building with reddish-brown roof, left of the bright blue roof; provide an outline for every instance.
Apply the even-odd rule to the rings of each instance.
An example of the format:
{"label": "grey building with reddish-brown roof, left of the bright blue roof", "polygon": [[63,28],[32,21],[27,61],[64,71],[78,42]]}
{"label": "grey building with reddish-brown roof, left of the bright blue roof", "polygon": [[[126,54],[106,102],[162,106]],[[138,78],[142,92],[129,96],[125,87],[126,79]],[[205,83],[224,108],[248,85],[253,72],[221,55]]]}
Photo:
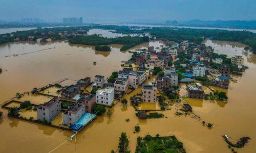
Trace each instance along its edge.
{"label": "grey building with reddish-brown roof, left of the bright blue roof", "polygon": [[59,98],[52,98],[44,105],[37,107],[37,119],[51,121],[61,111]]}

